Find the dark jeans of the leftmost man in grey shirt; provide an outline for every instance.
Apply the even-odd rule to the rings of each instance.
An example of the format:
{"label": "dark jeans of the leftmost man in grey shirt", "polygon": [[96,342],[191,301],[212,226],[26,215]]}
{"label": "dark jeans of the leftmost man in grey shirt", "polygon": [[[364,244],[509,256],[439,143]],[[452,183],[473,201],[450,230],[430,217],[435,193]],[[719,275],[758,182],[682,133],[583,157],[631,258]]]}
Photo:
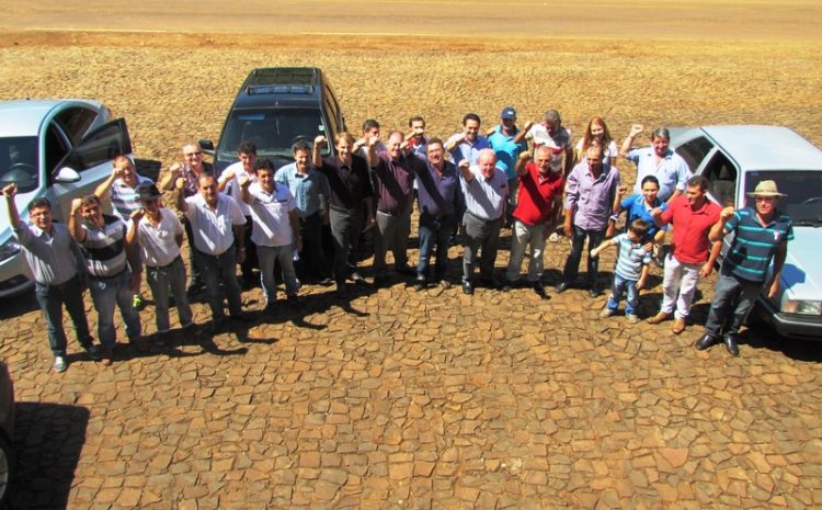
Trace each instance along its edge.
{"label": "dark jeans of the leftmost man in grey shirt", "polygon": [[66,305],[66,310],[75,325],[77,341],[85,350],[91,348],[92,339],[89,332],[89,320],[85,318],[80,276],[75,275],[60,285],[35,283],[34,295],[37,297],[37,303],[46,317],[48,345],[55,356],[66,355],[67,341],[66,331],[62,329],[62,305]]}

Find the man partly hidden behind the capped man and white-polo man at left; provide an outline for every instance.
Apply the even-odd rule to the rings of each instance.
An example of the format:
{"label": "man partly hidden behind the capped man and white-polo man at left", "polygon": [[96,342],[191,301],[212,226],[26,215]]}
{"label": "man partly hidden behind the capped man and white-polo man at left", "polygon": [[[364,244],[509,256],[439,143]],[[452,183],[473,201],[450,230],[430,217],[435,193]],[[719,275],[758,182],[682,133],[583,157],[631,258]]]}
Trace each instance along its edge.
{"label": "man partly hidden behind the capped man and white-polo man at left", "polygon": [[[183,163],[175,162],[169,169],[169,172],[160,180],[160,190],[173,190],[179,178],[183,178],[183,197],[187,199],[199,193],[199,177],[203,174],[214,175],[212,163],[203,161],[203,151],[194,141],[183,145]],[[199,275],[197,264],[194,263],[194,233],[191,229],[191,223],[183,217],[183,227],[185,228],[185,238],[189,240],[189,270],[191,271],[191,281],[186,291],[190,298],[194,297],[203,288],[203,279]]]}

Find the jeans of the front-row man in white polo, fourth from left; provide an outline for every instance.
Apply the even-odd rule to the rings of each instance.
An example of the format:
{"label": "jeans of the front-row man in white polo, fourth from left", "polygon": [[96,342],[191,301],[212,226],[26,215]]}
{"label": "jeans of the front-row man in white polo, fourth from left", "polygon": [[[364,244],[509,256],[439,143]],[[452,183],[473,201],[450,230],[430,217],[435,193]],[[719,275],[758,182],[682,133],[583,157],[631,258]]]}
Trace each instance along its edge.
{"label": "jeans of the front-row man in white polo, fourth from left", "polygon": [[226,317],[222,311],[220,283],[226,291],[228,313],[235,316],[241,315],[240,284],[237,282],[237,248],[232,246],[218,256],[196,251],[194,262],[199,267],[199,274],[206,285],[212,319],[219,320]]}

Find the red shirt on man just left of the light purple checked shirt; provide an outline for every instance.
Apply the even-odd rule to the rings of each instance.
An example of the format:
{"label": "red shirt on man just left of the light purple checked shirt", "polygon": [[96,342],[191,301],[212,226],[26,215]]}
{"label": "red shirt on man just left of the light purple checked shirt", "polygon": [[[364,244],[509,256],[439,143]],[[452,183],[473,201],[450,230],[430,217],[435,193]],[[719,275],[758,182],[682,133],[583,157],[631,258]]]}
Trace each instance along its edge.
{"label": "red shirt on man just left of the light purple checked shirt", "polygon": [[516,195],[514,217],[530,226],[541,225],[551,218],[553,201],[562,197],[566,180],[562,172],[549,172],[543,177],[537,166],[528,163],[527,172],[518,175],[520,190]]}

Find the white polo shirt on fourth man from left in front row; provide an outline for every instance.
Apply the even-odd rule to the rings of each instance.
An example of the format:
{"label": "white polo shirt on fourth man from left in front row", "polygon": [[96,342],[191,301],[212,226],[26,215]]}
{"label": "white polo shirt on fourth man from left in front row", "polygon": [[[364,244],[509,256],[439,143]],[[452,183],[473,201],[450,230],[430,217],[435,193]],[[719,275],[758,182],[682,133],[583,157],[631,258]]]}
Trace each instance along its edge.
{"label": "white polo shirt on fourth man from left in front row", "polygon": [[222,254],[231,248],[235,243],[235,225],[246,225],[246,216],[233,199],[218,194],[216,211],[206,204],[199,193],[185,199],[185,203],[189,207],[184,214],[194,233],[194,248],[210,256]]}

